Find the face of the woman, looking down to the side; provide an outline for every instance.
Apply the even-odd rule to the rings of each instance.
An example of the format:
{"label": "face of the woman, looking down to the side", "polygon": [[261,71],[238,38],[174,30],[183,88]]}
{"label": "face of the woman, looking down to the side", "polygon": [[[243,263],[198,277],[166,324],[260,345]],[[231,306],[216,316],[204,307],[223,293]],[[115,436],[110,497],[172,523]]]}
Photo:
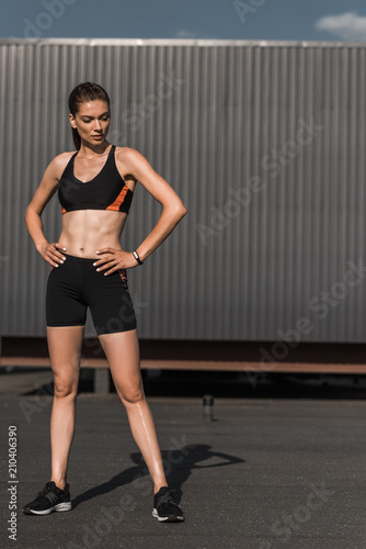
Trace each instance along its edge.
{"label": "face of the woman, looking down to the side", "polygon": [[79,104],[76,117],[69,114],[69,119],[71,126],[78,130],[81,139],[96,145],[103,143],[108,133],[111,113],[107,102],[96,99]]}

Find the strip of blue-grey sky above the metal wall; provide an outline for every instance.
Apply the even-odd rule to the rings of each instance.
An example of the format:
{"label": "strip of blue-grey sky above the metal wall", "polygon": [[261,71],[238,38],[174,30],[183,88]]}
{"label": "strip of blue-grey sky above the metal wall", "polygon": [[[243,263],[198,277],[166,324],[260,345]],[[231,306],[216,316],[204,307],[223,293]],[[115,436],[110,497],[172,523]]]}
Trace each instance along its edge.
{"label": "strip of blue-grey sky above the metal wall", "polygon": [[365,0],[9,0],[1,38],[366,41]]}

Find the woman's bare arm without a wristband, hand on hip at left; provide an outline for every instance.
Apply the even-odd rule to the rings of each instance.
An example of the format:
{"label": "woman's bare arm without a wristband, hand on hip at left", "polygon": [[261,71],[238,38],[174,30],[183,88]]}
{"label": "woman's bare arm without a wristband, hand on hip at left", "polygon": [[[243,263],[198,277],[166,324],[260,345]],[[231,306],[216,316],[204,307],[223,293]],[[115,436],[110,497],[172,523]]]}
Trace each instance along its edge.
{"label": "woman's bare arm without a wristband, hand on hip at left", "polygon": [[[49,244],[47,242],[47,238],[44,234],[41,215],[46,204],[50,201],[58,189],[57,175],[59,173],[60,169],[61,156],[62,155],[56,156],[48,165],[42,178],[41,184],[35,191],[34,197],[24,213],[26,228],[34,242],[37,251],[41,254],[44,260],[53,267],[58,267],[58,264],[60,262],[60,260],[62,260],[64,257],[62,254],[57,251],[57,248],[62,248],[66,250],[66,247],[60,243]],[[56,262],[57,260],[58,262]]]}

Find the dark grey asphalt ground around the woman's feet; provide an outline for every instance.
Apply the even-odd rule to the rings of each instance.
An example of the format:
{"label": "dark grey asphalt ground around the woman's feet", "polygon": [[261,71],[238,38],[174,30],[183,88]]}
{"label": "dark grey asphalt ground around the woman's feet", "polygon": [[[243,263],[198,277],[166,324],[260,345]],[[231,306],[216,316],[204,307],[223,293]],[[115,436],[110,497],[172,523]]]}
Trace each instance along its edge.
{"label": "dark grey asphalt ground around the woman's feet", "polygon": [[[49,373],[33,372],[35,392],[30,391],[31,372],[0,377],[1,547],[366,547],[363,384],[354,386],[348,380],[332,385],[314,379],[312,384],[262,380],[255,385],[251,379],[238,396],[233,386],[240,385],[240,378],[232,376],[231,381],[218,376],[215,382],[209,372],[191,373],[186,391],[183,372],[160,382],[157,376],[146,379],[167,479],[185,514],[184,523],[162,524],[151,515],[151,480],[123,404],[115,393],[88,391],[77,400],[68,468],[72,509],[47,516],[22,513],[22,505],[33,500],[50,474],[53,397],[39,389]],[[172,379],[179,382],[169,383]],[[169,385],[174,396],[164,394]],[[191,394],[195,391],[201,396]],[[235,396],[228,397],[226,391]],[[211,421],[204,415],[205,392],[215,395]],[[16,427],[18,483],[8,482],[9,426]],[[14,486],[13,495],[9,485]],[[16,541],[8,538],[10,502],[16,505]]]}

